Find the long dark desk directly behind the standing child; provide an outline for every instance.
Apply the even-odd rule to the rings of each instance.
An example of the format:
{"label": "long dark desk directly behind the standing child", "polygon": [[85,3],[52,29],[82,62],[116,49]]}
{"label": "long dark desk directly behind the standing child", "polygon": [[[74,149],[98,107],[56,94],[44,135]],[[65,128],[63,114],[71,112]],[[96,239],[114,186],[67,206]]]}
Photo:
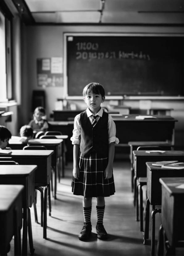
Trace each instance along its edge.
{"label": "long dark desk directly behind the standing child", "polygon": [[[128,116],[128,118],[125,118]],[[176,119],[169,116],[155,116],[157,119],[136,119],[136,114],[113,117],[116,125],[116,137],[119,144],[128,148],[129,141],[168,141],[174,145],[174,124]],[[68,135],[68,154],[73,159],[73,145],[70,138],[73,135],[74,121],[49,121],[52,131],[61,131]]]}

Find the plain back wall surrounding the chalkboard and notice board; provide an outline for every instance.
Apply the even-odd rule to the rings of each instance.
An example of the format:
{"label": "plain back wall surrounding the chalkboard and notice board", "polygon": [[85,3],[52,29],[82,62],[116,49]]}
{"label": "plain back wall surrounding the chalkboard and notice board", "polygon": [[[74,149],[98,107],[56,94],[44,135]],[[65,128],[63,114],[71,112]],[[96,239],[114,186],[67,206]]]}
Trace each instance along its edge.
{"label": "plain back wall surrounding the chalkboard and notice board", "polygon": [[[22,26],[22,104],[19,109],[19,127],[27,124],[31,117],[31,100],[33,90],[45,90],[46,115],[50,118],[55,108],[57,98],[62,98],[63,87],[47,87],[45,89],[37,86],[36,59],[46,57],[63,57],[63,33],[65,32],[94,32],[94,33],[183,33],[182,27],[175,26],[78,26],[78,25],[39,25]],[[99,81],[100,82],[100,81]],[[76,101],[81,108],[85,104]],[[127,101],[124,104],[139,107],[139,101]],[[176,128],[177,143],[183,144],[183,101],[153,101],[153,107],[174,108],[172,116],[179,122]],[[178,117],[178,118],[177,118]]]}

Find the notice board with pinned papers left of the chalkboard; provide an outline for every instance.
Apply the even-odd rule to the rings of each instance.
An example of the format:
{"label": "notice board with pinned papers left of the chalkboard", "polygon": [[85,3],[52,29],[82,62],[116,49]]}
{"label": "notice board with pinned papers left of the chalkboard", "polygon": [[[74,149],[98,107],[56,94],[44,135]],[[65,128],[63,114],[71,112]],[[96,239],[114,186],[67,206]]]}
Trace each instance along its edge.
{"label": "notice board with pinned papers left of the chalkboard", "polygon": [[37,85],[41,87],[63,86],[63,58],[37,59]]}

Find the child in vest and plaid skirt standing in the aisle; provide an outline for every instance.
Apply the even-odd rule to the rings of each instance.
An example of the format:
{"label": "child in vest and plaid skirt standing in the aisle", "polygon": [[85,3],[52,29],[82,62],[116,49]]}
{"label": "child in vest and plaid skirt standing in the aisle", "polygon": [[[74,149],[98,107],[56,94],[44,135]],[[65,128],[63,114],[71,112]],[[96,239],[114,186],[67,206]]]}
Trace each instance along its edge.
{"label": "child in vest and plaid skirt standing in the aisle", "polygon": [[78,237],[84,240],[91,234],[92,197],[96,197],[96,232],[99,239],[106,239],[104,197],[115,193],[112,164],[115,143],[119,143],[119,139],[115,137],[112,117],[100,107],[105,100],[103,86],[99,83],[88,84],[83,90],[83,97],[88,108],[75,117],[71,138],[74,145],[72,192],[83,196],[85,224]]}

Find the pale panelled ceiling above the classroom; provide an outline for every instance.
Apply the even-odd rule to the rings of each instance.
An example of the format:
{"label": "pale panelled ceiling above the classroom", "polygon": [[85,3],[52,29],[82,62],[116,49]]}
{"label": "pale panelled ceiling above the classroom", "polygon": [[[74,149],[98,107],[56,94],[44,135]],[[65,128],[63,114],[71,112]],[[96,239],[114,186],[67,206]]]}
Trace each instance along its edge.
{"label": "pale panelled ceiling above the classroom", "polygon": [[36,23],[183,24],[183,0],[12,0]]}

